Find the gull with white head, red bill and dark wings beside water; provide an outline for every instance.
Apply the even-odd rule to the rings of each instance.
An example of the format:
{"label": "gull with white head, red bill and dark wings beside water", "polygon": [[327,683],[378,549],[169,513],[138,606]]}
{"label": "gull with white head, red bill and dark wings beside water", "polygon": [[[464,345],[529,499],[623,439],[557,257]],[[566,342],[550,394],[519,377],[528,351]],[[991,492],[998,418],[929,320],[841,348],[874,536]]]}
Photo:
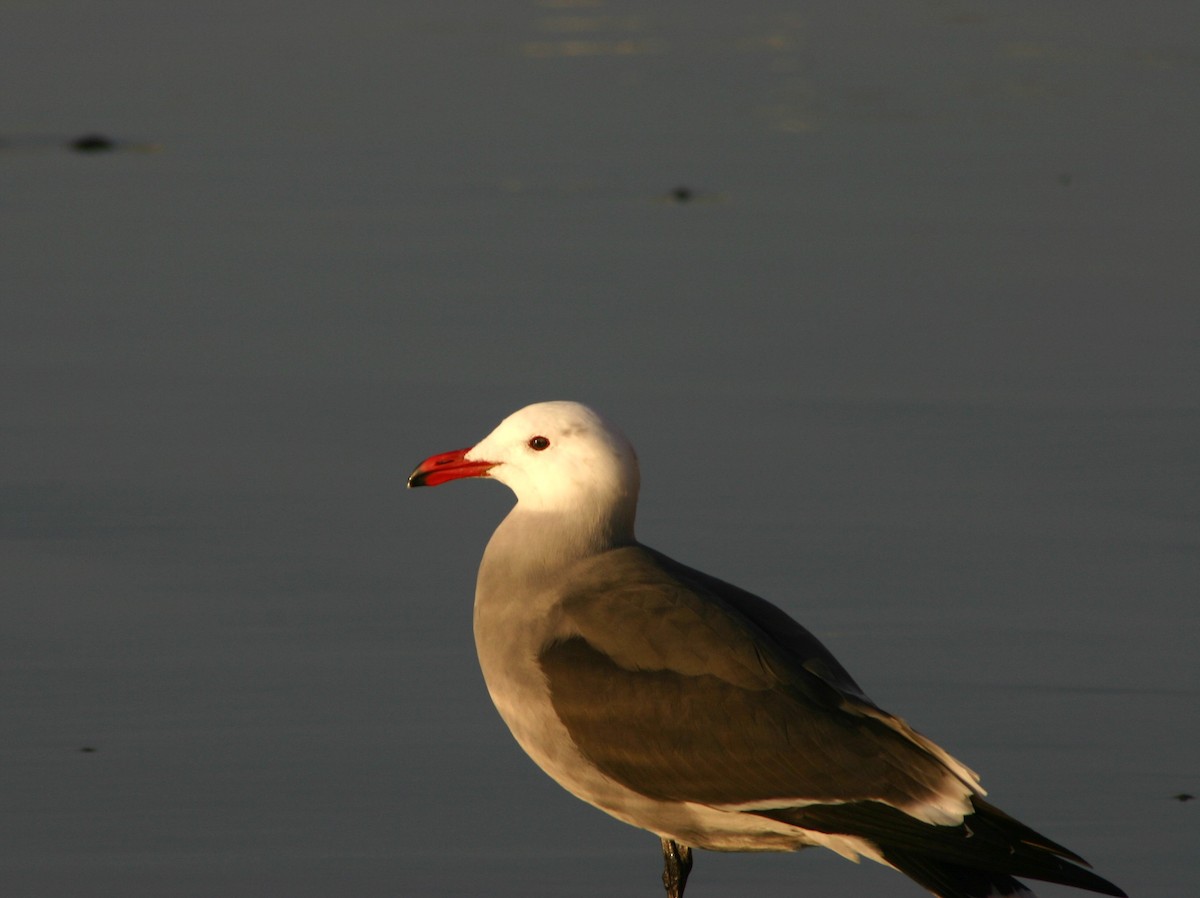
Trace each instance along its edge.
{"label": "gull with white head, red bill and dark wings beside water", "polygon": [[667,898],[696,849],[809,846],[940,898],[1031,898],[1018,876],[1126,894],[988,802],[781,609],[640,543],[637,455],[599,413],[527,406],[408,486],[466,478],[516,495],[475,589],[492,701],[551,778],[659,837]]}

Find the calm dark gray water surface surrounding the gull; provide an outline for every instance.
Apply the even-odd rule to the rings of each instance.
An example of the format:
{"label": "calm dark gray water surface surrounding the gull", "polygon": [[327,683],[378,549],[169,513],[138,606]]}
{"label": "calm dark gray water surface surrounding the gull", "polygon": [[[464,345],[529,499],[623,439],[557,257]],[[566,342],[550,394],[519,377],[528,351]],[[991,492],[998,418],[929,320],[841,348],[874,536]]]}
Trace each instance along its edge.
{"label": "calm dark gray water surface surrounding the gull", "polygon": [[[643,540],[1132,896],[1200,894],[1198,35],[0,5],[0,891],[660,894],[482,688],[509,495],[403,490],[577,399],[638,447]],[[821,851],[689,888],[922,893]]]}

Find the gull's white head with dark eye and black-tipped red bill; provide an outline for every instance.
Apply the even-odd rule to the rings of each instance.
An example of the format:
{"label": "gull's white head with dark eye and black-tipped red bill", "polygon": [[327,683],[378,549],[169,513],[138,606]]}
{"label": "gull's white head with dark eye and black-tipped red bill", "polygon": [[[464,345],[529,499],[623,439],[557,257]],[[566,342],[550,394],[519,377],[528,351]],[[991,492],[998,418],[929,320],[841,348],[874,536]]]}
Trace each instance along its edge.
{"label": "gull's white head with dark eye and black-tipped red bill", "polygon": [[578,402],[538,402],[514,412],[470,449],[421,462],[409,486],[466,477],[499,480],[517,510],[564,515],[632,538],[640,475],[625,436]]}

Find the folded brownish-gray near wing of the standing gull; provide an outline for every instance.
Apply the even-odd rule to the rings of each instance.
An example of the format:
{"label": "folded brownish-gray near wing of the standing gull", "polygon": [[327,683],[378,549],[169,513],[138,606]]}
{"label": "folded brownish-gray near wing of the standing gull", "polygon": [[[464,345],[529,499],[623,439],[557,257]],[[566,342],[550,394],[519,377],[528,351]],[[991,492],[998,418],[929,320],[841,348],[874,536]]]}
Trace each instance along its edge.
{"label": "folded brownish-gray near wing of the standing gull", "polygon": [[589,559],[562,613],[539,657],[554,710],[593,764],[643,795],[758,808],[877,801],[956,822],[982,791],[863,698],[782,611],[652,550]]}

